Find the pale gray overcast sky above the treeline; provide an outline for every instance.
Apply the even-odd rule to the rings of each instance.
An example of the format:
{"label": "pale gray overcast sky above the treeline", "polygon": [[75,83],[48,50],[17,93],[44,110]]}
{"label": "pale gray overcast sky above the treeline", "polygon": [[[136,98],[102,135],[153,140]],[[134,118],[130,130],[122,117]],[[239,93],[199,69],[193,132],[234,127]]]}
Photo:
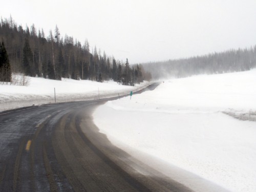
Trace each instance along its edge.
{"label": "pale gray overcast sky above the treeline", "polygon": [[0,15],[46,35],[57,25],[101,53],[130,63],[256,45],[255,0],[8,0]]}

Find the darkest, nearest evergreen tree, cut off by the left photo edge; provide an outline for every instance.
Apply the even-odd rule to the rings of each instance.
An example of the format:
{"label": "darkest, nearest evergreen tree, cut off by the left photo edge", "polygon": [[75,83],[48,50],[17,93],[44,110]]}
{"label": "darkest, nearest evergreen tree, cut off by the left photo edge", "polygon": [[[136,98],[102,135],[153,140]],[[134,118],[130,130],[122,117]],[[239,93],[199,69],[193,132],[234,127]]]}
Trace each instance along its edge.
{"label": "darkest, nearest evergreen tree, cut off by the left photo edge", "polygon": [[0,81],[11,82],[12,72],[4,41],[0,45]]}

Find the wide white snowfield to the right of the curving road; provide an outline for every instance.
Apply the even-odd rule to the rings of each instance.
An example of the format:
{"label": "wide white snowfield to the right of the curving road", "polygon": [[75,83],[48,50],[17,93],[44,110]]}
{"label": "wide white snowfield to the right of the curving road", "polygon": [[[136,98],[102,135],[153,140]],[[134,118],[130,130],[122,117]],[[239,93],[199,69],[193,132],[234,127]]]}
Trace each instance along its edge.
{"label": "wide white snowfield to the right of the curving road", "polygon": [[93,117],[100,132],[135,156],[148,154],[230,191],[252,192],[256,191],[255,115],[253,69],[165,80],[156,90],[131,100],[108,101]]}

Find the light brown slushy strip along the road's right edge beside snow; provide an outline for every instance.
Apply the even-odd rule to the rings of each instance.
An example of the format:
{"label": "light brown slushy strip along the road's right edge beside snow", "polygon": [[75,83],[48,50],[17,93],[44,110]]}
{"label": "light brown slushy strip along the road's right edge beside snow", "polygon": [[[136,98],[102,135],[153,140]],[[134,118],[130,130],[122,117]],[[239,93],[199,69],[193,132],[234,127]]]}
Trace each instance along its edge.
{"label": "light brown slushy strip along the road's right edge beside snow", "polygon": [[[135,188],[135,191],[192,191],[157,170],[133,159],[129,154],[113,145],[106,135],[99,133],[91,117],[95,107],[95,105],[89,106],[86,112],[83,110],[77,112],[75,121],[77,132],[84,143],[92,148],[113,170],[116,170],[119,177],[123,177]],[[145,175],[138,173],[133,167],[143,170]]]}

